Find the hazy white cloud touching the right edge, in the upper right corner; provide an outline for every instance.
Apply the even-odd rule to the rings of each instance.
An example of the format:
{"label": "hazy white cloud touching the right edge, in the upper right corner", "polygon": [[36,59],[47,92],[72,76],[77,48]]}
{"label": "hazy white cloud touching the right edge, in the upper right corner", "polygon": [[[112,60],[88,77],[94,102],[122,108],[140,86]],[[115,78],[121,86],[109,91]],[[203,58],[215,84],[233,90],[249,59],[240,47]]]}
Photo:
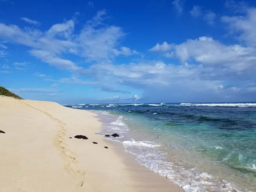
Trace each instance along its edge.
{"label": "hazy white cloud touching the right edge, in the upper right corner", "polygon": [[248,46],[256,46],[256,8],[248,8],[246,16],[223,16],[221,20],[227,23],[230,33],[237,34]]}

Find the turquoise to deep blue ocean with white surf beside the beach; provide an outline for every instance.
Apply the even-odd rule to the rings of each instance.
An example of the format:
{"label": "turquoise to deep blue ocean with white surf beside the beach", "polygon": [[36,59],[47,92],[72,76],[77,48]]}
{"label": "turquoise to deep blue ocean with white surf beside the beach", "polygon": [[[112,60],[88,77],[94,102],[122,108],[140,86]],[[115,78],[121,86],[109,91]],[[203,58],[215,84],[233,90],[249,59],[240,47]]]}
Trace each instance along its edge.
{"label": "turquoise to deep blue ocean with white surf beside the beach", "polygon": [[256,192],[256,103],[79,104],[185,192]]}

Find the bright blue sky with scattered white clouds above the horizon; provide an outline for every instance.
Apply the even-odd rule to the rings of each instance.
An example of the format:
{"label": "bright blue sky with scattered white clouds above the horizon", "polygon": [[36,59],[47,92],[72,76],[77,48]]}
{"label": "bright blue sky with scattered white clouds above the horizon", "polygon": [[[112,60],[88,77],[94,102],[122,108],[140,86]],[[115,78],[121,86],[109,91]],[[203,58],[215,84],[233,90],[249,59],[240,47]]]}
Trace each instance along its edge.
{"label": "bright blue sky with scattered white clouds above the horizon", "polygon": [[256,1],[0,0],[0,86],[60,104],[256,102]]}

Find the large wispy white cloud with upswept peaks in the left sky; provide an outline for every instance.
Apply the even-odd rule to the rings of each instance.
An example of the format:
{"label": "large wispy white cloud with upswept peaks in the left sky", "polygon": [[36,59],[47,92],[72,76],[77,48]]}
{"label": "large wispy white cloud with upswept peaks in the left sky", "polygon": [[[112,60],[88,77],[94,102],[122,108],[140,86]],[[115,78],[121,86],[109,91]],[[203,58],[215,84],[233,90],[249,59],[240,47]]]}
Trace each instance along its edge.
{"label": "large wispy white cloud with upswept peaks in the left sky", "polygon": [[[0,38],[30,47],[31,55],[73,73],[81,73],[83,69],[75,62],[61,58],[65,54],[78,55],[87,62],[111,62],[119,55],[138,55],[136,50],[118,46],[125,33],[118,26],[105,25],[105,15],[105,10],[97,12],[79,34],[74,33],[75,18],[57,23],[45,32],[0,23]],[[0,56],[4,57],[6,53],[0,51]]]}

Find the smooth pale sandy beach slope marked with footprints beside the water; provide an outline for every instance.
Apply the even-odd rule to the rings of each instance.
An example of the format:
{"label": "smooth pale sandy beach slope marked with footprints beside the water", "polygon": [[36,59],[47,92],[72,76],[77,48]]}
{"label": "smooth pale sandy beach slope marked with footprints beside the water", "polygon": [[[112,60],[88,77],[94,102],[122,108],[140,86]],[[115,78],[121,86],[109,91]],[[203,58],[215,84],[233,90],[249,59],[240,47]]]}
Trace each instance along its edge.
{"label": "smooth pale sandy beach slope marked with footprints beside the water", "polygon": [[94,134],[100,129],[89,111],[0,96],[0,191],[182,191]]}

